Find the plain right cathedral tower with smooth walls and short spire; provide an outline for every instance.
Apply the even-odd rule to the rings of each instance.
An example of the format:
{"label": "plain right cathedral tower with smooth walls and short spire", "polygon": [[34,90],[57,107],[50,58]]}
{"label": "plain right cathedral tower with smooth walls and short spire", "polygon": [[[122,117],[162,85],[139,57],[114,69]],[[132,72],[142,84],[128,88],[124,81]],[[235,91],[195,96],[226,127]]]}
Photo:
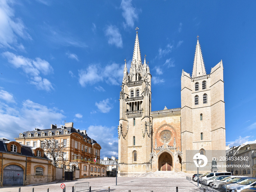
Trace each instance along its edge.
{"label": "plain right cathedral tower with smooth walls and short spire", "polygon": [[[206,74],[197,39],[192,76],[181,75],[181,146],[182,168],[189,171],[193,157],[189,150],[207,157],[225,157],[225,102],[222,60]],[[190,157],[187,157],[190,156]],[[217,160],[217,164],[225,164]],[[209,162],[210,161],[210,162]],[[211,169],[208,158],[206,170]],[[224,168],[219,168],[222,171]],[[192,171],[192,170],[191,170]]]}

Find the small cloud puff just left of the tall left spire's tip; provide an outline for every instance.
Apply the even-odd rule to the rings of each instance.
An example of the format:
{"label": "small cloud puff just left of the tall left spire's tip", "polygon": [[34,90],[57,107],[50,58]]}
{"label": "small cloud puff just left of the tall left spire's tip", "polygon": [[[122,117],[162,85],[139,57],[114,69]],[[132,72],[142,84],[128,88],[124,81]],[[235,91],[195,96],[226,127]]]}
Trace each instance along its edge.
{"label": "small cloud puff just left of the tall left spire's tip", "polygon": [[109,25],[105,31],[110,45],[116,45],[118,48],[123,47],[123,40],[121,34],[116,26]]}

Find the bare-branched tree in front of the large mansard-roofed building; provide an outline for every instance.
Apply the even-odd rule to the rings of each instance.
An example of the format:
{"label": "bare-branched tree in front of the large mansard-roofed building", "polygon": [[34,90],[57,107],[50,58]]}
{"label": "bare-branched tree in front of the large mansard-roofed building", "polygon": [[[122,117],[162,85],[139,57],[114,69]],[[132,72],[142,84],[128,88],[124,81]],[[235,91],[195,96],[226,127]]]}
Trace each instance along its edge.
{"label": "bare-branched tree in front of the large mansard-roofed building", "polygon": [[54,138],[45,139],[42,145],[47,157],[52,160],[54,166],[64,164],[66,161],[66,153],[64,153],[63,142],[60,142]]}

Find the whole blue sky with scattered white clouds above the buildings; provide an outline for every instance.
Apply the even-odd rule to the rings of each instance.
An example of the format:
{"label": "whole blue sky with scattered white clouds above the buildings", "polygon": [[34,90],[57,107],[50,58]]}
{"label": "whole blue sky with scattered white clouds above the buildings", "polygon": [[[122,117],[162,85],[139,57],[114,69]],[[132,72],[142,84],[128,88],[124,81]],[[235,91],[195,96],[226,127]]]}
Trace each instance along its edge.
{"label": "whole blue sky with scattered white clouds above the buildings", "polygon": [[[207,74],[223,61],[226,144],[256,143],[255,1],[0,2],[0,137],[74,122],[117,156],[120,85],[136,27],[152,110],[179,108],[197,35]],[[128,66],[129,69],[129,66]]]}

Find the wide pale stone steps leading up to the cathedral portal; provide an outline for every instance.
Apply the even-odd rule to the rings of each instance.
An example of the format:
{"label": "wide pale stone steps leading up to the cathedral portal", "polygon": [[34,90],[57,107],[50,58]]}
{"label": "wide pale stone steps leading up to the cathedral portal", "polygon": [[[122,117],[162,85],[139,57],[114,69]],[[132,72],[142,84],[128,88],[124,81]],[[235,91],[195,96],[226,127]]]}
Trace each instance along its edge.
{"label": "wide pale stone steps leading up to the cathedral portal", "polygon": [[143,174],[133,174],[132,177],[163,177],[163,178],[186,178],[192,177],[191,173],[185,172],[176,172],[176,171],[157,171],[157,172],[148,172]]}

